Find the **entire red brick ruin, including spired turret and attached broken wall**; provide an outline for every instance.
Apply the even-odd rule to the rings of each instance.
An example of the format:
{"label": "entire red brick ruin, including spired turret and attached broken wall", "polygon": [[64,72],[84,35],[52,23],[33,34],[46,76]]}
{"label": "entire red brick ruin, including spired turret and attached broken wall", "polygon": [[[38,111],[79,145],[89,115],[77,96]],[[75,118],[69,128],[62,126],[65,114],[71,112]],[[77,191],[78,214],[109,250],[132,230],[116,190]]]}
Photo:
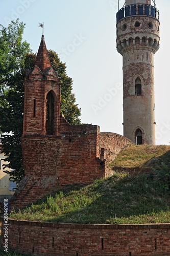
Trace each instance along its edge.
{"label": "entire red brick ruin, including spired turret and attached broken wall", "polygon": [[70,125],[60,115],[60,83],[42,36],[35,67],[25,79],[21,138],[25,177],[11,200],[21,208],[58,186],[86,184],[111,174],[108,163],[132,142],[100,133],[98,125]]}

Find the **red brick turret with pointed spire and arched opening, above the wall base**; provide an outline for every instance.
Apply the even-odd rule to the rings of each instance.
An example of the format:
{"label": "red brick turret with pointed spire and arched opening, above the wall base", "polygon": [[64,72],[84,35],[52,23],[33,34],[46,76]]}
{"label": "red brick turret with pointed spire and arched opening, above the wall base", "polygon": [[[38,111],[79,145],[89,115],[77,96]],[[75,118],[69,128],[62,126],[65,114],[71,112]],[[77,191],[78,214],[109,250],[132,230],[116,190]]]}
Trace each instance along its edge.
{"label": "red brick turret with pointed spire and arched opening, above the wall base", "polygon": [[42,35],[33,71],[25,79],[23,136],[59,135],[60,84]]}

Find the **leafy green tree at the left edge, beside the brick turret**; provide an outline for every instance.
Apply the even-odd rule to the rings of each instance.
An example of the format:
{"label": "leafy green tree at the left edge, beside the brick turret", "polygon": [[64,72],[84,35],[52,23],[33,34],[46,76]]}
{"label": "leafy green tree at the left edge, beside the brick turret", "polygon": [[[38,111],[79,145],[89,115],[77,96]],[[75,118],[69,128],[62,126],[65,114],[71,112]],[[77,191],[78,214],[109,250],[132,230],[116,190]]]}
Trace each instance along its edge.
{"label": "leafy green tree at the left edge, beside the brick turret", "polygon": [[[2,152],[6,167],[13,169],[11,178],[19,181],[23,176],[20,137],[23,123],[23,78],[25,57],[31,52],[27,41],[22,41],[25,24],[11,22],[0,30],[0,130]],[[7,172],[8,173],[8,172]]]}

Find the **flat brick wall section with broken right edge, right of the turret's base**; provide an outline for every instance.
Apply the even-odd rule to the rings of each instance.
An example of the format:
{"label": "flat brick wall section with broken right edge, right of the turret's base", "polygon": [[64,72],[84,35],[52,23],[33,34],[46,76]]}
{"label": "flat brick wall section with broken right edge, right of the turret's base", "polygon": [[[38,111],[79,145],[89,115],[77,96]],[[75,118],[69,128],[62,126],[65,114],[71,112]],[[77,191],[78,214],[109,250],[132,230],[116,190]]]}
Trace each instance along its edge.
{"label": "flat brick wall section with broken right edge, right of the turret's base", "polygon": [[100,127],[83,124],[61,127],[60,182],[61,184],[86,184],[105,176],[99,159],[98,135]]}

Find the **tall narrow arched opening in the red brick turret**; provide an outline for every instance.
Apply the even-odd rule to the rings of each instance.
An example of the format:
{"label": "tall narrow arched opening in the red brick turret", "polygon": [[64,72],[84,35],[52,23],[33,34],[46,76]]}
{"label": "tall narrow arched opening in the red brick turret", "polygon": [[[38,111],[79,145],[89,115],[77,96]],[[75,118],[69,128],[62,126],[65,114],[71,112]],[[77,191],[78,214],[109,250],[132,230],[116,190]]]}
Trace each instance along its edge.
{"label": "tall narrow arched opening in the red brick turret", "polygon": [[54,97],[52,92],[46,96],[46,134],[54,134]]}

